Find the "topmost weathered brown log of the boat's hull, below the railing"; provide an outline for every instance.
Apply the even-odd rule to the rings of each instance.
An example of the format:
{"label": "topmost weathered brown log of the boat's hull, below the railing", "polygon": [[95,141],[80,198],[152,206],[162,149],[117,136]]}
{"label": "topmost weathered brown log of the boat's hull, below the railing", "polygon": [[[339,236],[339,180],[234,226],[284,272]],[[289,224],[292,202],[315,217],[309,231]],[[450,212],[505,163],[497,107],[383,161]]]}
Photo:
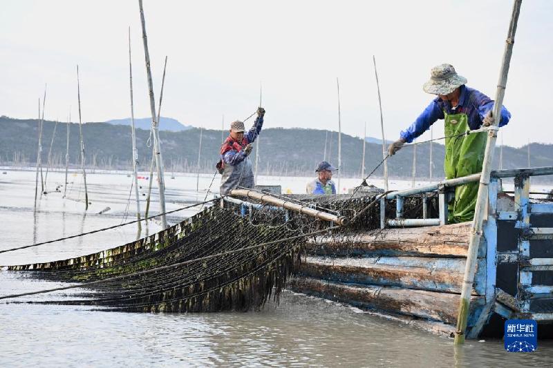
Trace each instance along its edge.
{"label": "topmost weathered brown log of the boat's hull, below the railing", "polygon": [[444,255],[466,257],[470,222],[319,236],[306,242],[317,255]]}

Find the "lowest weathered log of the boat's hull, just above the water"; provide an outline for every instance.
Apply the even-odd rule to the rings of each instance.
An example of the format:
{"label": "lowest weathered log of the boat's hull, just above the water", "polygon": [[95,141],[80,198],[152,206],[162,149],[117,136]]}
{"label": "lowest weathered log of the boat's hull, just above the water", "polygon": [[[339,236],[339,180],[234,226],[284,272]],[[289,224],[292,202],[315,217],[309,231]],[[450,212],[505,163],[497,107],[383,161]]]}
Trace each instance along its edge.
{"label": "lowest weathered log of the boat's hull, just above the water", "polygon": [[[294,278],[290,281],[289,289],[364,309],[406,314],[451,325],[457,322],[460,298],[453,293],[341,284],[314,278]],[[480,307],[483,302],[480,296],[472,297],[471,309]]]}

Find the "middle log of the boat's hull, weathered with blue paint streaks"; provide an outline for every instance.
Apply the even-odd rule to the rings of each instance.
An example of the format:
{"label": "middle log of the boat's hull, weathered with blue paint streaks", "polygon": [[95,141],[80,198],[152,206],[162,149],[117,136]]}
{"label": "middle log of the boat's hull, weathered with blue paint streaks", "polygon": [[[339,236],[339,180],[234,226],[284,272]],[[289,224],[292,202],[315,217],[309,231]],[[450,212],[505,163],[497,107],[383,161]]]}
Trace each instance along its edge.
{"label": "middle log of the boat's hull, weathered with blue paint streaks", "polygon": [[[306,257],[299,275],[333,282],[377,284],[408,289],[460,293],[464,258],[431,257]],[[478,262],[474,295],[485,293],[485,260]]]}

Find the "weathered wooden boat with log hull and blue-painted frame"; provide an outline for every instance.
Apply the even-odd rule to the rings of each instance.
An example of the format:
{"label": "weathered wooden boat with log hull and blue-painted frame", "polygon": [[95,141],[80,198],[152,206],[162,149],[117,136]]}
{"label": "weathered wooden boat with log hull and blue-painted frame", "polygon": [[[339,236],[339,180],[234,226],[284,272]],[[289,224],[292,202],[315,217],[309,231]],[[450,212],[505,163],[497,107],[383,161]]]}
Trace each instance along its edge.
{"label": "weathered wooden boat with log hull and blue-painted frame", "polygon": [[[503,320],[511,318],[537,320],[543,336],[553,337],[553,202],[529,199],[530,177],[551,173],[553,168],[492,172],[467,338],[503,336]],[[479,179],[473,176],[471,181]],[[514,177],[514,195],[500,190],[504,177]],[[404,197],[437,190],[438,219],[382,217],[384,229],[308,242],[289,288],[453,337],[471,231],[470,222],[447,224],[447,197],[457,184],[462,182],[388,195],[401,215]],[[424,222],[434,226],[409,226]],[[403,227],[389,227],[398,224]]]}

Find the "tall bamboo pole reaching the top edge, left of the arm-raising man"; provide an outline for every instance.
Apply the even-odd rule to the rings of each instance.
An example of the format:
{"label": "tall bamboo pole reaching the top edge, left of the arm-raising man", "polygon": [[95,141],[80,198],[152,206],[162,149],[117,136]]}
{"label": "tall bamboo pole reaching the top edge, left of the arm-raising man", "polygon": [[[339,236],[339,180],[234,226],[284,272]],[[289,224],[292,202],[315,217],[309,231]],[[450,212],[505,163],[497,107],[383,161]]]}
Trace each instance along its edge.
{"label": "tall bamboo pole reaching the top edge, left of the arm-raising man", "polygon": [[[156,102],[153,97],[153,81],[151,79],[150,68],[150,53],[148,50],[148,38],[146,35],[146,20],[144,19],[144,8],[142,6],[142,0],[138,0],[138,6],[140,8],[140,21],[142,22],[142,39],[144,41],[144,58],[146,61],[146,74],[148,79],[149,97],[150,97],[150,110],[151,110],[151,128],[153,132],[153,150],[154,157],[156,157],[156,167],[158,171],[158,185],[160,191],[160,211],[161,222],[163,229],[167,229],[167,218],[165,217],[165,178],[163,175],[163,159],[161,156],[161,146],[159,137],[159,119],[156,117]],[[167,61],[167,57],[165,57]],[[160,98],[161,101],[161,98]],[[156,121],[157,119],[157,121]]]}

